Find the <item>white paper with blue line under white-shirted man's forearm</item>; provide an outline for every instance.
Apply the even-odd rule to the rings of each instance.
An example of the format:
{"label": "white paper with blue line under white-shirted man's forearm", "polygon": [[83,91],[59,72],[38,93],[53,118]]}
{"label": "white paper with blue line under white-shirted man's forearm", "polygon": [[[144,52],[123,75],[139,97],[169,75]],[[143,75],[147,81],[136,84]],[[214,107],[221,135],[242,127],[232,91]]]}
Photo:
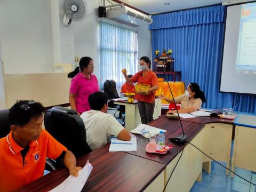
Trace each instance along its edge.
{"label": "white paper with blue line under white-shirted man's forearm", "polygon": [[113,138],[108,151],[137,151],[137,140],[132,138],[131,141],[123,141]]}

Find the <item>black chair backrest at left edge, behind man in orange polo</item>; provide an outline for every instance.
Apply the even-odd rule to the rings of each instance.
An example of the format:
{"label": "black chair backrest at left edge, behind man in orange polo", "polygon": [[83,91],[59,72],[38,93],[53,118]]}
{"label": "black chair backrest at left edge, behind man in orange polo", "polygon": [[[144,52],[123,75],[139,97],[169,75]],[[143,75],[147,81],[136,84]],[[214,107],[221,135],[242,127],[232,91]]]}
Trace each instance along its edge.
{"label": "black chair backrest at left edge, behind man in orange polo", "polygon": [[10,133],[9,109],[0,110],[0,138]]}

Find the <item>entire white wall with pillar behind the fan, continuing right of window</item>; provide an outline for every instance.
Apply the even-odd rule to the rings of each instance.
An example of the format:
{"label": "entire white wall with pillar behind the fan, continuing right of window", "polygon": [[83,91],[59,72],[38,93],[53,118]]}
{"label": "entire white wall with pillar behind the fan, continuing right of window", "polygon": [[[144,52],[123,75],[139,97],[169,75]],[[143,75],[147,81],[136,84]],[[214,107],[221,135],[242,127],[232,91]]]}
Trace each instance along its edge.
{"label": "entire white wall with pillar behind the fan, continuing right of window", "polygon": [[[58,5],[59,2],[59,5]],[[62,24],[61,0],[0,1],[0,38],[6,74],[51,73],[54,62],[70,63],[75,55],[94,60],[94,74],[99,76],[99,17],[101,0],[87,3],[87,15]],[[10,10],[11,13],[10,14]],[[130,27],[131,28],[131,27]],[[138,58],[151,55],[150,31],[138,27]]]}

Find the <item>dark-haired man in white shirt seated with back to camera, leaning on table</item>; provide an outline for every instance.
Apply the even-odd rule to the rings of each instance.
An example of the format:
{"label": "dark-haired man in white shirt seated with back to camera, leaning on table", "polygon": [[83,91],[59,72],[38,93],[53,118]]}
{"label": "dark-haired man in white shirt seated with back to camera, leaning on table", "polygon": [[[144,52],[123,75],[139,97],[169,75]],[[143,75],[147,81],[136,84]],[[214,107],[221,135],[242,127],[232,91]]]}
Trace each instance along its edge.
{"label": "dark-haired man in white shirt seated with back to camera, leaning on table", "polygon": [[110,141],[111,135],[130,141],[131,134],[108,111],[108,97],[103,92],[95,92],[88,98],[91,110],[80,117],[84,121],[87,143],[92,150]]}

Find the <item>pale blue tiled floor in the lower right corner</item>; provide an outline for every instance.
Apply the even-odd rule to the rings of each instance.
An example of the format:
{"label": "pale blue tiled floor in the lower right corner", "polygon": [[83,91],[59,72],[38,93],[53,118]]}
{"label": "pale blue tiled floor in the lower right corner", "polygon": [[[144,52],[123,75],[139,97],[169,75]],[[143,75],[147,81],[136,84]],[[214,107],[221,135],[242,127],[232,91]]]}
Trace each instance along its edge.
{"label": "pale blue tiled floor in the lower right corner", "polygon": [[[226,166],[226,163],[219,162]],[[256,173],[244,169],[236,168],[236,173],[241,177],[256,183]],[[202,182],[195,182],[190,192],[213,191],[241,191],[241,192],[255,192],[256,187],[243,179],[234,176],[231,179],[230,175],[226,176],[226,170],[215,162],[212,162],[211,174],[203,171]]]}

